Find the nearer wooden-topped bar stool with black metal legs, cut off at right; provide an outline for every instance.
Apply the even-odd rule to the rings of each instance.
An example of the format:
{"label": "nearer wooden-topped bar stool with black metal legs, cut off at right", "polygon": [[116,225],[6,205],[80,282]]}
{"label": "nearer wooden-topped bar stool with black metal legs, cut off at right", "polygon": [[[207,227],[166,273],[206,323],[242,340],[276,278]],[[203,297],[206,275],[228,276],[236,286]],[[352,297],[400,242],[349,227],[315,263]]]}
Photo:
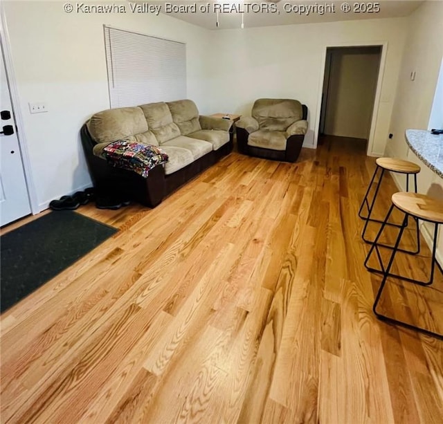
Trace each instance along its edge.
{"label": "nearer wooden-topped bar stool with black metal legs, cut off at right", "polygon": [[[392,248],[392,253],[390,255],[390,259],[388,262],[388,266],[386,268],[383,266],[383,261],[381,261],[381,255],[379,253],[379,246],[377,242],[379,241],[379,238],[381,236],[381,233],[383,232],[386,225],[388,225],[388,219],[390,217],[390,214],[392,213],[392,210],[394,208],[397,208],[401,212],[404,213],[404,220],[403,223],[401,223],[399,234],[397,237],[397,240],[395,241],[395,246]],[[428,281],[422,282],[410,277],[406,277],[404,275],[395,275],[390,273],[390,269],[392,267],[392,262],[394,261],[395,255],[399,251],[399,243],[401,240],[401,236],[404,233],[404,229],[406,228],[406,225],[408,223],[409,216],[413,217],[414,219],[430,222],[434,224],[434,237],[433,237],[433,248],[432,248],[432,257],[431,257],[431,273],[429,276]],[[443,224],[443,201],[433,199],[432,197],[426,196],[425,194],[417,194],[417,193],[410,193],[410,192],[399,192],[392,195],[392,205],[390,206],[390,209],[388,211],[388,214],[386,215],[386,218],[384,219],[383,223],[381,224],[381,228],[377,234],[377,237],[375,238],[374,242],[372,243],[372,246],[368,252],[368,256],[365,259],[365,266],[368,268],[368,260],[370,256],[372,255],[372,252],[377,252],[377,257],[379,259],[379,264],[381,266],[381,270],[383,273],[383,279],[381,281],[379,291],[377,293],[377,296],[374,300],[374,305],[372,306],[372,311],[374,311],[374,314],[377,315],[377,317],[381,320],[385,320],[388,322],[392,322],[393,324],[398,324],[401,326],[405,326],[408,329],[413,329],[420,331],[422,333],[425,333],[427,335],[432,335],[433,337],[437,337],[440,339],[443,339],[442,334],[433,333],[433,331],[429,331],[426,329],[423,329],[418,326],[414,326],[412,324],[408,324],[407,322],[402,322],[399,320],[395,320],[393,318],[387,317],[386,315],[382,315],[381,313],[377,312],[377,305],[379,303],[381,293],[383,292],[383,288],[386,285],[386,281],[388,277],[395,277],[398,279],[403,279],[404,281],[411,282],[414,284],[419,284],[420,286],[429,286],[433,283],[434,279],[434,270],[435,270],[435,264],[437,264],[438,268],[440,268],[440,272],[443,273],[442,268],[440,267],[440,264],[438,264],[437,260],[435,259],[435,252],[437,249],[437,235],[438,235],[438,228],[439,225]],[[372,270],[372,268],[368,268],[369,270]]]}

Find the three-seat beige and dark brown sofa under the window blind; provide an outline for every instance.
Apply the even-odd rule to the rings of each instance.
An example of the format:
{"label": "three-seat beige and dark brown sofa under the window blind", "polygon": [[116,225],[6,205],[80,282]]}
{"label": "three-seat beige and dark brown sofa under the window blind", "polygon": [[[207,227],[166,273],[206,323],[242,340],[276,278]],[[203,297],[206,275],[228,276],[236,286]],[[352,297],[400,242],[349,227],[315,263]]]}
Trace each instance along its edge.
{"label": "three-seat beige and dark brown sofa under the window blind", "polygon": [[[192,100],[142,104],[94,114],[82,127],[82,143],[99,193],[125,192],[154,207],[190,178],[229,154],[232,122],[200,116]],[[147,178],[107,165],[102,156],[110,142],[129,140],[159,146],[168,162]]]}

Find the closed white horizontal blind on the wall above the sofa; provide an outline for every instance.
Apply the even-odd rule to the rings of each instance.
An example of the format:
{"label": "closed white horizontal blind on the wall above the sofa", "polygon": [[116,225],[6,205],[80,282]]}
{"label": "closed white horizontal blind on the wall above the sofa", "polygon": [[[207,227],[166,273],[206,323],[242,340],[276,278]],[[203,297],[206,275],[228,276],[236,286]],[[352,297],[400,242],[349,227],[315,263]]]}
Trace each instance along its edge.
{"label": "closed white horizontal blind on the wall above the sofa", "polygon": [[111,108],[186,98],[186,44],[105,26]]}

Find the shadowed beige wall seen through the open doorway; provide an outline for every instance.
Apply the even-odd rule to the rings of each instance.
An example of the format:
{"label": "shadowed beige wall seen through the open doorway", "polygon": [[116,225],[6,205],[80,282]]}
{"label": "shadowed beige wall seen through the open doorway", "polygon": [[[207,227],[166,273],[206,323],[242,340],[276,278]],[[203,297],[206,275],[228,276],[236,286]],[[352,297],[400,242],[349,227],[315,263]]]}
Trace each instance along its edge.
{"label": "shadowed beige wall seen through the open doorway", "polygon": [[380,48],[332,49],[325,134],[368,140],[380,57]]}

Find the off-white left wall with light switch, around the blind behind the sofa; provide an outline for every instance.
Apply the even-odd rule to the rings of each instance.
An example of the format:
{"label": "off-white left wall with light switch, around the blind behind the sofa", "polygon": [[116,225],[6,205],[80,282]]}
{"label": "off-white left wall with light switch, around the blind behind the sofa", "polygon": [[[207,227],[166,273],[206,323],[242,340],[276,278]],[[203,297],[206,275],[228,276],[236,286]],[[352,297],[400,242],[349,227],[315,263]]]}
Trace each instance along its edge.
{"label": "off-white left wall with light switch, around the blind behind the sofa", "polygon": [[[188,98],[208,109],[210,31],[166,15],[66,13],[56,1],[3,6],[40,210],[91,184],[79,130],[109,108],[103,24],[186,42]],[[31,115],[28,102],[46,102],[48,113]]]}

